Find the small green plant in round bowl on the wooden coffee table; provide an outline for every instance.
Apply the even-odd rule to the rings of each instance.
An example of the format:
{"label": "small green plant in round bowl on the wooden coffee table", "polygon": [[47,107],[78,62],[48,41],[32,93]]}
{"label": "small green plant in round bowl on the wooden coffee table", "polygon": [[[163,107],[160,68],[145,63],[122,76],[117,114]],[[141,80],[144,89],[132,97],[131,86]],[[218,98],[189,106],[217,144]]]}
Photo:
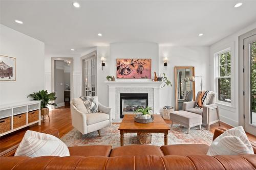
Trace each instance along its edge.
{"label": "small green plant in round bowl on the wooden coffee table", "polygon": [[152,107],[139,108],[135,112],[135,121],[139,123],[151,123],[154,120],[153,115],[151,114]]}

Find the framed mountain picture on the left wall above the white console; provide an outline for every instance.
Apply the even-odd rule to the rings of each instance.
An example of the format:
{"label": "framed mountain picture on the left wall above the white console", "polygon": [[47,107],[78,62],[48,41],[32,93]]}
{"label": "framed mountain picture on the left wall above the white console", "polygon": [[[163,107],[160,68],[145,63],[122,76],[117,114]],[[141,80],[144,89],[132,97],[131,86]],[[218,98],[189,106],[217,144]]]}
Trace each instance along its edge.
{"label": "framed mountain picture on the left wall above the white console", "polygon": [[0,81],[16,81],[16,58],[0,55]]}

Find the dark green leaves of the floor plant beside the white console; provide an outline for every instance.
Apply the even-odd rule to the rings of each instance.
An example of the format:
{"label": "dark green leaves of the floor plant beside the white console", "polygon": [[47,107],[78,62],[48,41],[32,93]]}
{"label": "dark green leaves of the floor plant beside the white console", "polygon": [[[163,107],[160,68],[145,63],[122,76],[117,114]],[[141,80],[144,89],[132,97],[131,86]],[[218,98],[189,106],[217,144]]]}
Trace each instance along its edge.
{"label": "dark green leaves of the floor plant beside the white console", "polygon": [[33,98],[33,101],[41,101],[41,109],[47,108],[48,105],[57,106],[56,103],[51,103],[51,101],[55,101],[57,99],[55,92],[48,93],[47,90],[41,90],[34,92],[33,94],[29,94],[27,98],[28,97]]}

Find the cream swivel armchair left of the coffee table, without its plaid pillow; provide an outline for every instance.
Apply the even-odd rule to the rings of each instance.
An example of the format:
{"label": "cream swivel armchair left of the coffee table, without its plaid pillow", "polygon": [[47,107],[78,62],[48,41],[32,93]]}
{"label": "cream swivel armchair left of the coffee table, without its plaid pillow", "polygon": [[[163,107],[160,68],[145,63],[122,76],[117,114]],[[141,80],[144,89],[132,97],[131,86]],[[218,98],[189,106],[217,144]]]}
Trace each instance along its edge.
{"label": "cream swivel armchair left of the coffee table, without its plaid pillow", "polygon": [[[97,96],[94,96],[98,101]],[[72,125],[82,135],[98,131],[101,136],[100,129],[111,126],[111,108],[98,103],[97,113],[88,113],[86,106],[80,98],[75,98],[70,102]]]}

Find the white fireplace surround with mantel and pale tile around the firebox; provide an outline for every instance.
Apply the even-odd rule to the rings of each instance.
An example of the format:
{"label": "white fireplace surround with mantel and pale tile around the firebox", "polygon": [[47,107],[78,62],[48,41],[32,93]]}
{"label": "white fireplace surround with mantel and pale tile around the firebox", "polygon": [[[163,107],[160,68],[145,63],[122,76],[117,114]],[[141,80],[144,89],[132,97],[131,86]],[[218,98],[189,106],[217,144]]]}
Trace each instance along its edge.
{"label": "white fireplace surround with mantel and pale tile around the firebox", "polygon": [[148,93],[148,106],[153,108],[155,114],[159,114],[160,102],[159,91],[162,82],[136,82],[116,81],[105,82],[109,87],[109,107],[115,122],[120,119],[120,93]]}

